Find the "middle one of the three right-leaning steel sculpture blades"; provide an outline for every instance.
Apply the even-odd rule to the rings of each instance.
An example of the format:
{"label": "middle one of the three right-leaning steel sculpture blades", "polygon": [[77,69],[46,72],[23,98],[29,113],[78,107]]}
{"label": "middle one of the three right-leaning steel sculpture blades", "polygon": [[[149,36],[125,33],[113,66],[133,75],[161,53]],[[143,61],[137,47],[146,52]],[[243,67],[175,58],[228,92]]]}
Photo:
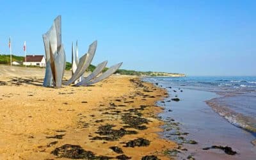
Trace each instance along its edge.
{"label": "middle one of the three right-leaning steel sculpture blades", "polygon": [[107,63],[108,61],[103,61],[102,63],[97,65],[95,70],[93,70],[93,72],[89,76],[85,77],[81,82],[77,83],[76,86],[84,86],[83,84],[86,84],[93,78],[97,77],[100,74],[100,72],[102,72],[102,70],[106,67]]}

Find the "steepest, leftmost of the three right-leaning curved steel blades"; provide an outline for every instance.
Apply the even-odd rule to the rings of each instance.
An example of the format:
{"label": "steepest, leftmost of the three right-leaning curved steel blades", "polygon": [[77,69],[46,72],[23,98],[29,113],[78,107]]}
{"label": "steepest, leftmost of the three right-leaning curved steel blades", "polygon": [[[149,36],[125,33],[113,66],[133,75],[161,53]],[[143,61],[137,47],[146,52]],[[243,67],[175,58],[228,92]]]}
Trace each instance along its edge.
{"label": "steepest, leftmost of the three right-leaning curved steel blades", "polygon": [[69,85],[71,83],[74,83],[74,81],[76,81],[77,79],[79,79],[79,77],[81,77],[84,72],[86,71],[86,69],[90,66],[90,64],[92,63],[95,51],[97,48],[97,41],[93,42],[88,49],[88,53],[84,54],[84,56],[82,56],[79,59],[79,63],[77,65],[77,69],[76,72],[74,72],[74,75],[67,81],[66,85]]}

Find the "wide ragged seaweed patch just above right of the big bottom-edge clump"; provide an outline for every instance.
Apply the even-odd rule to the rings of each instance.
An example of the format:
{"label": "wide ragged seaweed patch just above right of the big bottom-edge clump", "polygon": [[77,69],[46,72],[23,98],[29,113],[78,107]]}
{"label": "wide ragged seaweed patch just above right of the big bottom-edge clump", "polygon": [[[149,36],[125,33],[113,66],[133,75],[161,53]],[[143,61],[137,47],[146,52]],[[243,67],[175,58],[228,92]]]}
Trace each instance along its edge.
{"label": "wide ragged seaweed patch just above right of the big bottom-edge clump", "polygon": [[112,127],[115,127],[115,125],[102,125],[99,127],[97,134],[100,134],[100,136],[95,136],[91,140],[106,140],[106,141],[116,141],[119,138],[122,138],[125,134],[137,134],[136,131],[127,131],[123,128],[121,129],[112,129]]}

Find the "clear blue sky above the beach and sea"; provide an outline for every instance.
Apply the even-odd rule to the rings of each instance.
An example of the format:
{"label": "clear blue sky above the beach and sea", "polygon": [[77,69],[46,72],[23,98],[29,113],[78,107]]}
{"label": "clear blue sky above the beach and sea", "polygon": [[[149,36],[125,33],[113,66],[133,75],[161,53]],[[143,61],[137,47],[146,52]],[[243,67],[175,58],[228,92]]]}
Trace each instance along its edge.
{"label": "clear blue sky above the beach and sea", "polygon": [[71,61],[98,40],[93,65],[189,76],[256,76],[256,1],[2,1],[0,53],[44,54],[42,34],[61,15]]}

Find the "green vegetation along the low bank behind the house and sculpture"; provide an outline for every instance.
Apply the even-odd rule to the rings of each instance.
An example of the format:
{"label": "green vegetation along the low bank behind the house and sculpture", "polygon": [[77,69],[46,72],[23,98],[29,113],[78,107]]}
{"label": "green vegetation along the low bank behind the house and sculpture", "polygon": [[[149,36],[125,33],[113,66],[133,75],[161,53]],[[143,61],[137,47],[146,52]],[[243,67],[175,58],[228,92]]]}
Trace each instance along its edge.
{"label": "green vegetation along the low bank behind the house and sculpture", "polygon": [[[24,59],[23,56],[12,55],[12,61],[23,61],[23,59]],[[0,54],[0,64],[10,64],[10,55]],[[32,67],[32,66],[28,66],[28,67]],[[72,64],[70,62],[66,62],[65,69],[71,70],[71,68],[72,68]],[[93,72],[95,68],[96,68],[95,65],[90,65],[86,71]],[[104,68],[103,72],[106,72],[106,70],[108,70],[107,67]],[[136,70],[124,70],[124,69],[117,70],[115,74],[130,75],[130,76],[172,76],[172,77],[185,76],[184,74],[173,74],[173,73],[166,73],[166,72],[150,72],[150,71],[141,72]]]}

